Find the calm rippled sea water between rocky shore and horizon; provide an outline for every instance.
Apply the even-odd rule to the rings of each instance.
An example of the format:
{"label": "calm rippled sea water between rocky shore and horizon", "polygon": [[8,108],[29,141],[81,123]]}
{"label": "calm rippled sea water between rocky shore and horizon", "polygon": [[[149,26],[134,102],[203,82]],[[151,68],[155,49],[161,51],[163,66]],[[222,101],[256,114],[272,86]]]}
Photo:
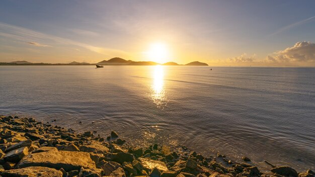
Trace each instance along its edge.
{"label": "calm rippled sea water between rocky shore and horizon", "polygon": [[315,68],[0,66],[0,114],[315,169]]}

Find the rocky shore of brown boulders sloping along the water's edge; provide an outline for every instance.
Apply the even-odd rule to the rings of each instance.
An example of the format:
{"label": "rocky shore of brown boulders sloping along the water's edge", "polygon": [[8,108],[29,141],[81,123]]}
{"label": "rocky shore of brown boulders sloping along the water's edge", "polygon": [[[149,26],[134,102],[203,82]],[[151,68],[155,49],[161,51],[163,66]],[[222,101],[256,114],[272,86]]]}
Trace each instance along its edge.
{"label": "rocky shore of brown boulders sloping along the water's edge", "polygon": [[[0,176],[269,176],[250,159],[236,163],[222,154],[204,157],[185,146],[185,153],[153,144],[134,147],[112,132],[75,133],[33,118],[0,116]],[[289,166],[271,166],[272,176],[314,177]]]}

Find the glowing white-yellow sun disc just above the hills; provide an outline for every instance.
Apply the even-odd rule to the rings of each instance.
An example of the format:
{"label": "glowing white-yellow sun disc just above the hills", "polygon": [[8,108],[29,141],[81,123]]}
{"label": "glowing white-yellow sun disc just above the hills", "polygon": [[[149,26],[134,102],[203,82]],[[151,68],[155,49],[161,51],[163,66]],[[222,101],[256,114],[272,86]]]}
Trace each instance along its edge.
{"label": "glowing white-yellow sun disc just above the hills", "polygon": [[157,63],[165,63],[169,59],[169,50],[164,43],[150,44],[148,51],[145,53],[150,61]]}

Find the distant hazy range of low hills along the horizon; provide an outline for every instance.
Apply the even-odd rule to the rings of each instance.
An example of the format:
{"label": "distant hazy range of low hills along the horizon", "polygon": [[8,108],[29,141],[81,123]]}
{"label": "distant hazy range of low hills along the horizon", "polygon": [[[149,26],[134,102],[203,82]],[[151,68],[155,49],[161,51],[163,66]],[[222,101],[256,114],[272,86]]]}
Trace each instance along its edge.
{"label": "distant hazy range of low hills along the horizon", "polygon": [[[119,57],[111,58],[109,60],[103,60],[98,63],[87,63],[87,62],[76,62],[72,61],[70,63],[31,63],[28,61],[12,61],[12,62],[0,62],[0,65],[159,65],[160,63],[156,63],[153,61],[132,61],[132,60],[125,60]],[[167,62],[162,65],[168,66],[177,66],[182,65],[175,62]],[[185,64],[187,66],[208,66],[207,63],[202,63],[199,61],[190,62]]]}

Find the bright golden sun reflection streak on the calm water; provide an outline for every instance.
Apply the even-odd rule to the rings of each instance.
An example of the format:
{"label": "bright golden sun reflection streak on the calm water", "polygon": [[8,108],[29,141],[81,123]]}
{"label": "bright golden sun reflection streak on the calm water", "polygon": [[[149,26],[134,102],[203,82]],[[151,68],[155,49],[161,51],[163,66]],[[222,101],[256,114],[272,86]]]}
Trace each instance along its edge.
{"label": "bright golden sun reflection streak on the calm water", "polygon": [[151,99],[159,108],[166,105],[164,88],[164,68],[161,65],[154,66]]}

